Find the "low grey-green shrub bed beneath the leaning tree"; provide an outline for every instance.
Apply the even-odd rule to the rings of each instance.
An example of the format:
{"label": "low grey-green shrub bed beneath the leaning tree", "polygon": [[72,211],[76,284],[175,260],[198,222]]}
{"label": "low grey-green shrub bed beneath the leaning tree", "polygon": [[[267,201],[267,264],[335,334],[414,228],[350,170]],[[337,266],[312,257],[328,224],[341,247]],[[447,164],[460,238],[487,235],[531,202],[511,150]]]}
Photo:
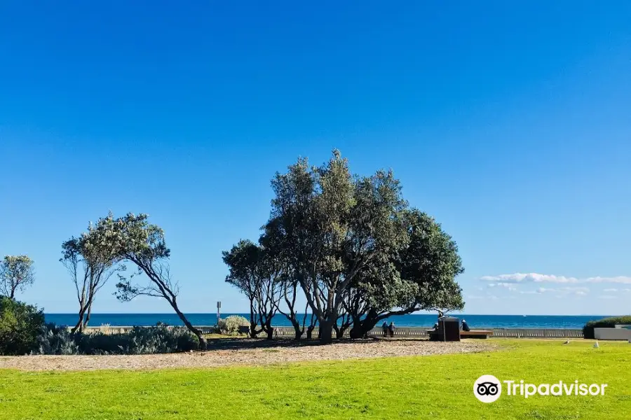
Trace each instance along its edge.
{"label": "low grey-green shrub bed beneath the leaning tree", "polygon": [[95,331],[71,333],[47,325],[37,339],[39,354],[154,354],[177,353],[199,348],[198,338],[184,327],[134,327],[129,332],[105,334]]}

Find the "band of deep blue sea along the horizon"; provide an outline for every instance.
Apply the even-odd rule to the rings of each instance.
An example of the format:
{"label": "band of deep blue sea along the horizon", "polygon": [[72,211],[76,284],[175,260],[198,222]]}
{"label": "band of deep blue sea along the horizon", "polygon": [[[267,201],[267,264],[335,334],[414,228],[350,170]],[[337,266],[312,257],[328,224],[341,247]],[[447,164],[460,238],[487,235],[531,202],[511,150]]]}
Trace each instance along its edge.
{"label": "band of deep blue sea along the horizon", "polygon": [[[222,314],[222,318],[235,314]],[[249,314],[236,314],[249,317]],[[194,325],[216,325],[217,314],[187,314]],[[604,318],[600,315],[564,316],[564,315],[454,315],[466,319],[472,328],[583,328],[587,321]],[[46,322],[57,325],[74,325],[76,314],[46,314]],[[400,327],[431,327],[436,322],[435,314],[412,314],[394,316],[389,321]],[[92,314],[90,325],[156,325],[158,322],[168,325],[182,325],[176,314]],[[285,316],[276,316],[273,325],[291,326]]]}

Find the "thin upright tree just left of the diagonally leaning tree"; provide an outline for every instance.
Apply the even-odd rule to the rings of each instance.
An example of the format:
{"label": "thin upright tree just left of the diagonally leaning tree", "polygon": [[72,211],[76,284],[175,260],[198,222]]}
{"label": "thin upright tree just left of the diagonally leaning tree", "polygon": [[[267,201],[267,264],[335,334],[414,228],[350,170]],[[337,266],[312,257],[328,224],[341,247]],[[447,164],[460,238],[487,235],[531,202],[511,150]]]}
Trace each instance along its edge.
{"label": "thin upright tree just left of the diagonally leaning tree", "polygon": [[108,231],[109,221],[114,218],[110,213],[95,225],[88,225],[88,231],[80,237],[72,237],[62,244],[60,262],[68,270],[76,289],[79,301],[79,319],[72,332],[83,330],[90,322],[92,305],[97,292],[114,274],[125,271],[116,255],[116,237]]}

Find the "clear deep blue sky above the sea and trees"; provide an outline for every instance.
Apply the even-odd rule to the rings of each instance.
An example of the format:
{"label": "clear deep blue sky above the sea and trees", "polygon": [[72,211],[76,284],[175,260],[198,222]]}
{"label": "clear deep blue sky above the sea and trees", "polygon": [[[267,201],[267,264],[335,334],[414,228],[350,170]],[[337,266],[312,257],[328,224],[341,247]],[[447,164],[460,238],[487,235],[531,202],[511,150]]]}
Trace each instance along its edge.
{"label": "clear deep blue sky above the sea and trees", "polygon": [[[36,262],[22,299],[74,312],[62,241],[144,212],[181,308],[243,311],[221,251],[258,237],[274,172],[336,147],[456,239],[466,312],[628,313],[629,22],[627,1],[4,2],[0,253]],[[95,311],[170,311],[113,291]]]}

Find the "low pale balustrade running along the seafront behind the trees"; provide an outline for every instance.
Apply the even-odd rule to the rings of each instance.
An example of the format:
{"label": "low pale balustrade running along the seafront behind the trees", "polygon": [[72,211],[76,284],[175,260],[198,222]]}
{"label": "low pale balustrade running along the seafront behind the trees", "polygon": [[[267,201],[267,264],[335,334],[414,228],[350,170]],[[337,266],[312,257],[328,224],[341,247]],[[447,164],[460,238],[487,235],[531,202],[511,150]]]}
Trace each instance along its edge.
{"label": "low pale balustrade running along the seafront behind the trees", "polygon": [[[215,332],[213,325],[197,325],[203,333],[208,334]],[[102,331],[105,334],[116,334],[128,332],[133,327],[102,325],[100,327],[90,326],[88,331]],[[428,337],[427,330],[430,327],[397,327],[394,331],[395,337]],[[487,328],[474,328],[482,330]],[[583,338],[583,330],[574,328],[488,328],[493,331],[493,337],[502,338]],[[274,336],[276,337],[294,337],[293,327],[276,327],[274,328]],[[381,328],[373,328],[368,335],[380,337],[384,335]],[[318,337],[318,327],[313,329],[313,337]],[[302,335],[306,337],[306,332]],[[348,330],[344,332],[344,337],[348,337]]]}

